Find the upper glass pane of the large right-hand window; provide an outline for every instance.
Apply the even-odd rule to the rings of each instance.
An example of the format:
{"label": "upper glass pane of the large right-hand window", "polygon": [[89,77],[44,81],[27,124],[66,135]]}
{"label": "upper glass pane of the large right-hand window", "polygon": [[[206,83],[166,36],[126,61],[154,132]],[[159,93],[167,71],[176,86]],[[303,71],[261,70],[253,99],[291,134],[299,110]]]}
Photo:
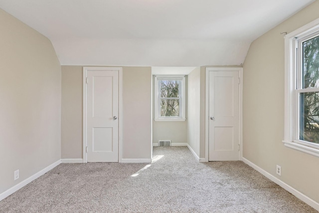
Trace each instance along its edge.
{"label": "upper glass pane of the large right-hand window", "polygon": [[319,87],[319,36],[303,42],[304,88]]}

